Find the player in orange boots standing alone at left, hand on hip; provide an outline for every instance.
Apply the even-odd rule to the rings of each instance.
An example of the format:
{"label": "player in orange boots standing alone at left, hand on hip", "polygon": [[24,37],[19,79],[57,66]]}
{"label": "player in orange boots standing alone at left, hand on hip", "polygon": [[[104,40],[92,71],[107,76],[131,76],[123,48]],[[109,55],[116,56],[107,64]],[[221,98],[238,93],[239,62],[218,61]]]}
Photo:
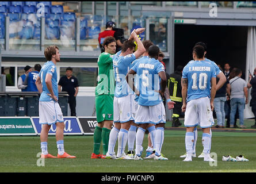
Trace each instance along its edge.
{"label": "player in orange boots standing alone at left, hand on hip", "polygon": [[[41,68],[39,76],[36,79],[36,87],[39,90],[39,124],[42,125],[41,140],[41,158],[76,158],[64,152],[64,120],[62,109],[58,104],[58,84],[56,63],[60,62],[59,48],[56,45],[49,46],[44,51],[47,63]],[[48,154],[47,140],[51,125],[56,125],[56,143],[58,155]]]}

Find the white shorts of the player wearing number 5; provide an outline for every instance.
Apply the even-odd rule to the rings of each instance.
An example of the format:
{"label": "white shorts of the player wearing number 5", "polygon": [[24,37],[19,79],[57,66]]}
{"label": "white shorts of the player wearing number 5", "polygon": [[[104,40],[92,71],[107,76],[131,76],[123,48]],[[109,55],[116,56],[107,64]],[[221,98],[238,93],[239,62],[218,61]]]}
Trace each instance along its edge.
{"label": "white shorts of the player wearing number 5", "polygon": [[165,106],[163,102],[153,106],[142,106],[138,104],[135,115],[136,124],[159,124],[166,122]]}

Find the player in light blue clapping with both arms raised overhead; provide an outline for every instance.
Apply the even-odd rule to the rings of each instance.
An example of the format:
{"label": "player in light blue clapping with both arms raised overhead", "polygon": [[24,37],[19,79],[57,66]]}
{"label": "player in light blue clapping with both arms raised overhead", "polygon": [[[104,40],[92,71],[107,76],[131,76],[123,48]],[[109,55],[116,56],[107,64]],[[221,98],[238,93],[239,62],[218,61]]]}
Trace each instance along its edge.
{"label": "player in light blue clapping with both arms raised overhead", "polygon": [[[134,121],[133,94],[129,88],[125,75],[128,72],[129,65],[138,57],[140,57],[145,48],[142,41],[137,37],[137,33],[144,32],[145,28],[133,30],[128,41],[124,42],[121,53],[117,53],[113,57],[114,77],[116,80],[116,88],[114,91],[114,127],[110,131],[108,152],[106,159],[132,159],[125,155],[124,150],[128,140],[128,130]],[[132,40],[131,40],[132,39]],[[137,43],[137,50],[133,53]],[[114,152],[114,145],[118,137],[119,147],[117,155]]]}

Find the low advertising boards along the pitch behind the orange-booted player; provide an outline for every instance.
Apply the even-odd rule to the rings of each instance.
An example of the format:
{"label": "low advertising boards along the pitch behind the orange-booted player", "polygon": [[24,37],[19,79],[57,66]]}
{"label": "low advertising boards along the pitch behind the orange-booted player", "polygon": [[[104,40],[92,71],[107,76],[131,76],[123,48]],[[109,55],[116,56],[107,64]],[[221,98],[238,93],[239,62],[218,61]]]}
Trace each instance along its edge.
{"label": "low advertising boards along the pitch behind the orange-booted player", "polygon": [[[64,117],[64,135],[93,135],[97,125],[94,116]],[[39,117],[0,117],[0,136],[39,136],[42,125]],[[55,135],[56,125],[52,125],[49,135]]]}

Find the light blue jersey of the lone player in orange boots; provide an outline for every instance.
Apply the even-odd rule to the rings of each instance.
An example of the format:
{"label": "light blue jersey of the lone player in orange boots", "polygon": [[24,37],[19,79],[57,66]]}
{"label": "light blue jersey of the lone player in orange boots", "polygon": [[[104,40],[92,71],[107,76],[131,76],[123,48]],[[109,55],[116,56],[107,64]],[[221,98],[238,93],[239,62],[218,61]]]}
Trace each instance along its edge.
{"label": "light blue jersey of the lone player in orange boots", "polygon": [[41,78],[41,83],[43,86],[43,93],[41,93],[39,101],[49,102],[53,101],[52,97],[49,97],[47,94],[51,94],[46,86],[45,83],[45,76],[46,74],[52,75],[52,90],[54,90],[54,95],[58,98],[58,83],[57,83],[57,71],[56,66],[52,61],[48,61],[44,63],[44,66],[41,68],[39,72],[39,76]]}

